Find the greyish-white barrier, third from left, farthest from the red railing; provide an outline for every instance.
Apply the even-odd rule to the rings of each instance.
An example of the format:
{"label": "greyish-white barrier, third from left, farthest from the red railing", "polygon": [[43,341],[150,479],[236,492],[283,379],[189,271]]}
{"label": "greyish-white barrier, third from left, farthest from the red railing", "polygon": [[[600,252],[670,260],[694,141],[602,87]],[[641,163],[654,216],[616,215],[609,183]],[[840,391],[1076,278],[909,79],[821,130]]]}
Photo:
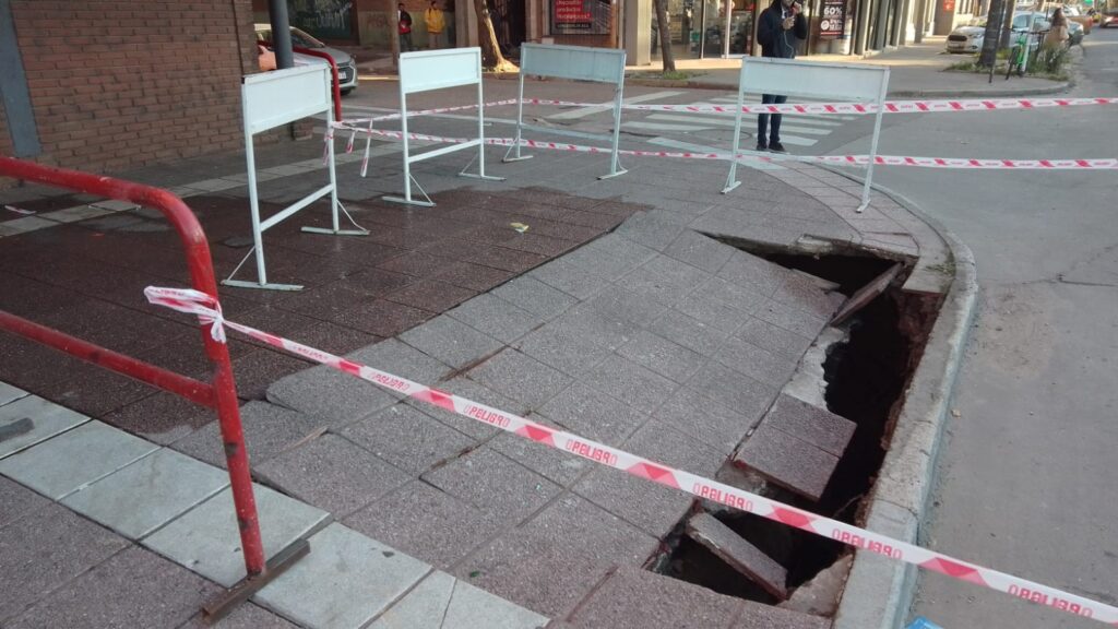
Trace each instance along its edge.
{"label": "greyish-white barrier, third from left, farthest from the red railing", "polygon": [[[622,91],[625,85],[625,50],[609,48],[587,48],[584,46],[552,46],[541,44],[524,44],[520,47],[520,90],[517,103],[517,135],[513,145],[505,152],[504,161],[529,159],[532,156],[521,154],[521,138],[524,129],[524,77],[548,76],[569,78],[572,81],[594,81],[614,85],[614,133],[613,154],[609,160],[609,173],[598,177],[606,179],[624,175],[626,170],[618,160],[618,140],[622,130]],[[537,128],[532,128],[537,129]],[[562,130],[547,128],[542,131],[565,135]],[[582,134],[579,134],[580,137]],[[512,157],[510,157],[510,154]]]}

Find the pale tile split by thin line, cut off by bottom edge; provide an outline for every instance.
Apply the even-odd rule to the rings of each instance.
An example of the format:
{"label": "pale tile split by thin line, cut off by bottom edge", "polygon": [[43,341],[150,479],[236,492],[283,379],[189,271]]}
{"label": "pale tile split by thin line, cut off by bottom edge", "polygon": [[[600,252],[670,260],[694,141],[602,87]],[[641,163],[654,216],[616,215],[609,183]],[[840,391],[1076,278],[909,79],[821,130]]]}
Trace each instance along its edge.
{"label": "pale tile split by thin line, cut off by bottom edge", "polygon": [[543,616],[436,572],[381,614],[370,629],[537,629],[547,622]]}

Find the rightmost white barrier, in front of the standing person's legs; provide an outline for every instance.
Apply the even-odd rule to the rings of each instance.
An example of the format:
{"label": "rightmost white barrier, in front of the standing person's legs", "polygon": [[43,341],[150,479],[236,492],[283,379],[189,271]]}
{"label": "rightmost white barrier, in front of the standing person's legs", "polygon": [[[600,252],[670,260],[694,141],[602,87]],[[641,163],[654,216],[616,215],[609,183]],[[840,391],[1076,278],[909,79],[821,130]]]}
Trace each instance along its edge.
{"label": "rightmost white barrier, in front of the standing person's legs", "polygon": [[[741,107],[745,105],[746,90],[762,94],[834,98],[877,104],[873,120],[873,139],[870,141],[870,160],[866,166],[865,186],[862,189],[862,212],[870,204],[870,186],[873,181],[873,162],[878,157],[878,137],[881,135],[881,114],[884,110],[885,92],[889,90],[889,68],[853,64],[826,64],[799,62],[795,59],[773,59],[746,57],[741,60],[741,76],[738,79],[738,111],[733,124],[733,151],[739,154],[741,142]],[[787,114],[786,114],[787,115]],[[730,161],[730,173],[726,178],[722,194],[737,188],[738,160]]]}

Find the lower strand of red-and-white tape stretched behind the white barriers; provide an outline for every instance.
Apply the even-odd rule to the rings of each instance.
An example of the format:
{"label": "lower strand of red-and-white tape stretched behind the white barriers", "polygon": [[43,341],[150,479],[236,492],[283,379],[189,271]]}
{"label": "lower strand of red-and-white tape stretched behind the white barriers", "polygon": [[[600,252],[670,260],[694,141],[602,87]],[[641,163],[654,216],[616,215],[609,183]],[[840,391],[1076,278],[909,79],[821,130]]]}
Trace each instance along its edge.
{"label": "lower strand of red-and-white tape stretched behind the white barriers", "polygon": [[[383,138],[402,138],[399,131],[386,131],[382,129],[357,129],[344,123],[335,123],[335,126],[349,129],[357,133],[380,135]],[[410,140],[423,140],[439,143],[463,143],[471,142],[464,138],[445,138],[442,135],[428,135],[425,133],[408,133]],[[517,143],[512,138],[486,138],[485,143],[498,147],[511,147]],[[612,149],[600,147],[585,147],[580,144],[569,144],[566,142],[546,142],[540,140],[520,140],[521,147],[532,149],[548,149],[553,151],[576,151],[584,153],[612,153]],[[870,163],[870,156],[787,156],[774,153],[738,153],[731,156],[723,152],[679,152],[679,151],[635,151],[619,150],[618,154],[632,157],[655,157],[673,159],[704,159],[704,160],[754,160],[764,162],[779,161],[802,161],[806,163],[831,163],[846,166],[866,166]],[[911,166],[919,168],[972,168],[982,170],[1115,170],[1118,169],[1118,158],[1103,159],[977,159],[977,158],[932,158],[932,157],[908,157],[908,156],[877,156],[873,158],[877,166]]]}

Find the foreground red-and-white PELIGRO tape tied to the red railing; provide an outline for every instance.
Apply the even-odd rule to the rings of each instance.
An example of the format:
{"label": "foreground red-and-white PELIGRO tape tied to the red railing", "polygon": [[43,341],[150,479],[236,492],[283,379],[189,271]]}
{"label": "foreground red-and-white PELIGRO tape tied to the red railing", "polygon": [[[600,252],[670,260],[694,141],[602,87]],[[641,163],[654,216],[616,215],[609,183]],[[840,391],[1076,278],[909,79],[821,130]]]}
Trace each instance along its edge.
{"label": "foreground red-and-white PELIGRO tape tied to the red railing", "polygon": [[[1093,618],[1100,622],[1118,627],[1118,608],[1033,581],[1020,579],[1004,572],[959,561],[945,554],[921,548],[920,546],[893,539],[885,535],[851,526],[835,519],[818,516],[811,511],[805,511],[804,509],[785,505],[757,494],[743,491],[716,480],[663,466],[625,452],[624,450],[584,439],[577,434],[531,422],[500,409],[432,388],[407,378],[395,376],[320,349],[314,349],[313,347],[249,328],[248,326],[225,320],[221,317],[221,310],[217,300],[208,294],[189,289],[155,287],[146,288],[144,294],[152,303],[199,316],[203,321],[212,321],[214,330],[222,327],[233,328],[274,347],[328,365],[414,400],[419,400],[464,417],[496,426],[505,432],[530,439],[537,443],[570,452],[584,459],[589,459],[590,461],[628,472],[645,480],[679,489],[705,500],[719,503],[738,510],[779,522],[787,526],[814,533],[822,537],[835,539],[855,548],[878,553],[932,572],[954,576],[968,583],[1005,592],[1026,601],[1052,607],[1076,616]],[[211,334],[216,335],[217,332]],[[215,336],[215,338],[217,337]]]}

